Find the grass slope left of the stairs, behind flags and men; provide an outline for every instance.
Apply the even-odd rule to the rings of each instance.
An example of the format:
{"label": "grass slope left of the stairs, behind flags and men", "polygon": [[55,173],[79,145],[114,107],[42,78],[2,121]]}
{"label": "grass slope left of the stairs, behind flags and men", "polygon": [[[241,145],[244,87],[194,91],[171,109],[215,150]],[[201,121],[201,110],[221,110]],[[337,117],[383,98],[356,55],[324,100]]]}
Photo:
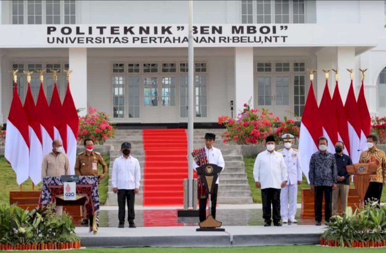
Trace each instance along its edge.
{"label": "grass slope left of the stairs, behind flags and men", "polygon": [[[103,159],[106,161],[107,168],[109,168],[110,164],[110,156],[104,155]],[[99,173],[102,173],[102,167],[99,165],[98,167]],[[109,175],[109,171],[107,172],[107,175]],[[99,186],[99,201],[100,204],[106,203],[107,200],[107,191],[108,191],[108,183],[109,183],[109,177],[104,177]],[[0,156],[0,204],[2,203],[9,203],[9,192],[10,191],[20,191],[20,186],[16,183],[16,174],[12,170],[11,165],[8,164],[7,160],[4,158],[4,156]],[[26,180],[23,184],[23,190],[30,191],[32,190],[32,181],[31,179]],[[35,186],[35,190],[41,190],[42,189],[42,183]]]}

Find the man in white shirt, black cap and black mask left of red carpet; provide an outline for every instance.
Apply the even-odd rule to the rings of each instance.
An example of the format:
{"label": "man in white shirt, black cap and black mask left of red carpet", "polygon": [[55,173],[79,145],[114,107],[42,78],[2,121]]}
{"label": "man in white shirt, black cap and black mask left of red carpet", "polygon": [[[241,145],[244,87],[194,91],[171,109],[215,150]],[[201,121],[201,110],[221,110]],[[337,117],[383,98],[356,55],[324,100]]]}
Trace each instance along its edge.
{"label": "man in white shirt, black cap and black mask left of red carpet", "polygon": [[122,156],[114,160],[112,185],[113,192],[118,193],[118,228],[125,227],[125,205],[127,200],[129,227],[135,228],[134,200],[135,194],[139,192],[139,180],[141,180],[141,169],[138,159],[130,156],[131,144],[121,144]]}

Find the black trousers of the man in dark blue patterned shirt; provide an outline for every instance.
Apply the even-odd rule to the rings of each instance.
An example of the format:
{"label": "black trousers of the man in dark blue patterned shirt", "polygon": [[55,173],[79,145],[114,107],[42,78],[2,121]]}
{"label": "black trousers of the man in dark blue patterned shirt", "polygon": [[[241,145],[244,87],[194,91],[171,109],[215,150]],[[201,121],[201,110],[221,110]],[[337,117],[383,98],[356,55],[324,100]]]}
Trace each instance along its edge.
{"label": "black trousers of the man in dark blue patterned shirt", "polygon": [[332,213],[332,186],[315,186],[315,221],[322,221],[324,194],[324,218],[329,221]]}

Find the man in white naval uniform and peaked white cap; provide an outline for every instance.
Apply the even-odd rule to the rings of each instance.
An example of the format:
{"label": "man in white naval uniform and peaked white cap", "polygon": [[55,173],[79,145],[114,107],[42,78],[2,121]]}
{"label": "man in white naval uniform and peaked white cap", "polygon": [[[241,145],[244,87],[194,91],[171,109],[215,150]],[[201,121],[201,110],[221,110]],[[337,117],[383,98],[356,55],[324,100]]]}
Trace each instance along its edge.
{"label": "man in white naval uniform and peaked white cap", "polygon": [[[280,149],[277,152],[283,155],[286,162],[288,179],[287,185],[280,192],[280,215],[283,223],[297,223],[296,201],[297,201],[297,185],[302,183],[302,164],[300,162],[300,152],[292,148],[294,136],[292,134],[282,135],[285,149]],[[289,201],[289,208],[288,208]]]}

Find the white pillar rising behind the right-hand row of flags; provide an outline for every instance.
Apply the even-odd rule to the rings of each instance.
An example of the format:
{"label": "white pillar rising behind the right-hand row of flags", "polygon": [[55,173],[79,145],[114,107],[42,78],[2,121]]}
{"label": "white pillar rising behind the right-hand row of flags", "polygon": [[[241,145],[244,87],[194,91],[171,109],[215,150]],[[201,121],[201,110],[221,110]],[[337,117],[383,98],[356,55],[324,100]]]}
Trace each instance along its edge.
{"label": "white pillar rising behind the right-hand row of flags", "polygon": [[[354,68],[355,72],[355,48],[354,47],[338,47],[337,48],[337,67],[339,71],[339,92],[342,96],[343,104],[346,102],[348,89],[350,87],[350,73],[346,69]],[[354,76],[353,84],[355,96],[358,97],[359,89],[357,81],[360,76]]]}

